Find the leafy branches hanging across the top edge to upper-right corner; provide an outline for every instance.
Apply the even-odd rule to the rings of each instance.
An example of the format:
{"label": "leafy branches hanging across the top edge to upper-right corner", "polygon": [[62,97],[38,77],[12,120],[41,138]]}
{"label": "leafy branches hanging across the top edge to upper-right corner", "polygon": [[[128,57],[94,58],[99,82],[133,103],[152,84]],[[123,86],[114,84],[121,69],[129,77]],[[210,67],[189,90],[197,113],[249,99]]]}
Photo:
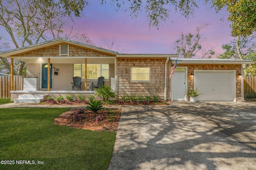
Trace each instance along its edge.
{"label": "leafy branches hanging across the top edge to upper-right corner", "polygon": [[[61,0],[66,1],[66,0]],[[232,22],[232,36],[251,35],[256,31],[255,0],[99,0],[102,4],[111,3],[117,7],[129,4],[132,17],[146,12],[149,26],[159,27],[161,21],[171,19],[172,12],[180,12],[185,18],[193,16],[200,2],[211,4],[216,13],[223,8],[229,12],[228,20]],[[87,1],[86,1],[87,2]]]}

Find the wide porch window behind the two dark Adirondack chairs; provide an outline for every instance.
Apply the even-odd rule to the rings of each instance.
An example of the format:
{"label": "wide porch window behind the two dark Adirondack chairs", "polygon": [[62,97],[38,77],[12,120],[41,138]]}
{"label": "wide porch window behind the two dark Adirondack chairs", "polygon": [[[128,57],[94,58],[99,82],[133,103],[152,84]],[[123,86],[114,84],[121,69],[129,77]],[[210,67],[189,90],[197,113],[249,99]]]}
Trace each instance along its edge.
{"label": "wide porch window behind the two dark Adirondack chairs", "polygon": [[[85,64],[74,64],[74,76],[85,78]],[[109,79],[109,64],[87,64],[87,79]]]}

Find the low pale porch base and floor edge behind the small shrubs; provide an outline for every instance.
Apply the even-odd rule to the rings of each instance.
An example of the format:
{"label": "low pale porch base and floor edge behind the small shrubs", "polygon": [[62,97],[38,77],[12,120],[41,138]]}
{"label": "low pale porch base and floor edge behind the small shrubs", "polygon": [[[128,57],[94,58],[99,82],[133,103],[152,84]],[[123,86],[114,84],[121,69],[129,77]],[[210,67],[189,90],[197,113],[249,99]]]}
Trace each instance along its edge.
{"label": "low pale porch base and floor edge behind the small shrubs", "polygon": [[74,99],[78,99],[78,94],[82,94],[86,97],[86,100],[91,95],[95,96],[96,100],[102,100],[100,96],[96,96],[96,91],[72,91],[72,90],[19,90],[19,91],[11,91],[11,101],[14,101],[14,99],[18,99],[19,95],[47,95],[47,97],[56,98],[56,96],[62,96],[66,100],[66,95],[72,94]]}

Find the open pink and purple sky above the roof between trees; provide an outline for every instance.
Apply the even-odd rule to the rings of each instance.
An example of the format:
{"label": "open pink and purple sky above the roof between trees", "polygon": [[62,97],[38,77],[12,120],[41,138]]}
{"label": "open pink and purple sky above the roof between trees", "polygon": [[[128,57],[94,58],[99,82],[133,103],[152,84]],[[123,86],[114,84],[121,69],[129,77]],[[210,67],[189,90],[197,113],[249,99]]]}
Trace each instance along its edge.
{"label": "open pink and purple sky above the roof between trees", "polygon": [[[112,50],[122,53],[175,54],[173,44],[180,38],[181,32],[196,33],[196,27],[206,23],[209,25],[200,31],[203,48],[212,49],[218,55],[223,53],[221,46],[234,39],[230,36],[226,10],[216,14],[210,5],[200,5],[188,20],[178,13],[172,13],[172,18],[163,22],[159,30],[149,28],[144,12],[138,18],[131,18],[130,12],[125,12],[126,9],[128,8],[122,6],[116,12],[114,6],[100,6],[97,1],[92,2],[85,10],[86,18],[78,20],[77,25],[84,27],[84,33],[88,34],[96,46],[102,45],[103,37],[110,41],[114,37]],[[200,57],[200,53],[197,56]]]}

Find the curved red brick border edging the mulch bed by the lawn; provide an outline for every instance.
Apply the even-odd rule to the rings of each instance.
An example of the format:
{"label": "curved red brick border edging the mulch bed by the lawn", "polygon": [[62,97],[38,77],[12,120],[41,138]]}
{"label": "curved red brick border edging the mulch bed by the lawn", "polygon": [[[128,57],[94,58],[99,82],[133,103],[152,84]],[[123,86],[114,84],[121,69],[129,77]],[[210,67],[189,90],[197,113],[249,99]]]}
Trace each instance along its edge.
{"label": "curved red brick border edging the mulch bed by the lawn", "polygon": [[68,117],[70,117],[70,115],[74,113],[74,110],[70,110],[67,112],[62,113],[61,115],[59,115],[58,117],[56,117],[54,119],[54,124],[55,125],[66,125],[69,127],[73,127],[76,129],[86,129],[86,130],[91,130],[91,131],[114,131],[117,132],[117,130],[113,130],[110,129],[106,126],[86,126],[86,125],[82,125],[82,124],[75,124],[75,123],[68,123]]}

